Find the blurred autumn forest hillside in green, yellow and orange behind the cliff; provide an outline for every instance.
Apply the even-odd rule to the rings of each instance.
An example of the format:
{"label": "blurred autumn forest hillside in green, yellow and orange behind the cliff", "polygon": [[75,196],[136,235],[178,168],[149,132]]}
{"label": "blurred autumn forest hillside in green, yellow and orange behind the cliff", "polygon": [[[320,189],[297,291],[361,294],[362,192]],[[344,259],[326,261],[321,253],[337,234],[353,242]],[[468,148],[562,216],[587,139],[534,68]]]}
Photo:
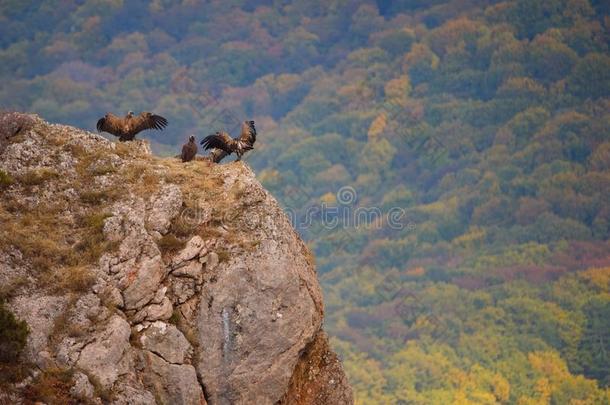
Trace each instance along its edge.
{"label": "blurred autumn forest hillside in green, yellow and orange behind the cliff", "polygon": [[[245,160],[358,404],[610,401],[610,3],[0,1],[0,108]],[[229,160],[232,160],[230,158]]]}

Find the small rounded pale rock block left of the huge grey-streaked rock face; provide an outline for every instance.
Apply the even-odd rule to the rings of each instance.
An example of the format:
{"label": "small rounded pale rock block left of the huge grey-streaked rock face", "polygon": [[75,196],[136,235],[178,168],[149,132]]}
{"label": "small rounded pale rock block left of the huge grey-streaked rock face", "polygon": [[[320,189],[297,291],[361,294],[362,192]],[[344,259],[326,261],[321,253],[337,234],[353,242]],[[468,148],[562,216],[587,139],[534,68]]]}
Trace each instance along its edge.
{"label": "small rounded pale rock block left of the huge grey-streaked rock face", "polygon": [[168,363],[183,364],[193,348],[174,325],[154,322],[140,337],[142,348],[161,356]]}

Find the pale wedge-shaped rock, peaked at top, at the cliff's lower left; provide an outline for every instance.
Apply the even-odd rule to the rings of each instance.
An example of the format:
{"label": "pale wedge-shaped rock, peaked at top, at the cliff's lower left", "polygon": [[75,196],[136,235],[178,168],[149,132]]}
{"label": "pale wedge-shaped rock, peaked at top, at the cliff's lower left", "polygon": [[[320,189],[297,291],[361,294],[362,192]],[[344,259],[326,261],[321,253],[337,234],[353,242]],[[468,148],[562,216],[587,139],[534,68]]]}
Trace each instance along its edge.
{"label": "pale wedge-shaped rock, peaked at top, at the cliff's lower left", "polygon": [[119,375],[132,368],[130,358],[129,324],[120,316],[113,315],[103,330],[85,346],[76,365],[94,376],[100,385],[109,389]]}

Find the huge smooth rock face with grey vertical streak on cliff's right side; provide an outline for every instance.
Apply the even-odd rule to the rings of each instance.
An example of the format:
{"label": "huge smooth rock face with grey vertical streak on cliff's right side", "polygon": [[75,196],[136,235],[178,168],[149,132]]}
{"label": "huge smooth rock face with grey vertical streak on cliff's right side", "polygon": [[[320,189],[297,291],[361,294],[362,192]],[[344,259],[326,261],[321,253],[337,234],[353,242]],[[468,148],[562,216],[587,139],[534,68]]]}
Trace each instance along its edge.
{"label": "huge smooth rock face with grey vertical streak on cliff's right side", "polygon": [[254,251],[238,251],[214,271],[206,269],[210,281],[202,286],[194,321],[202,342],[197,370],[211,403],[273,404],[320,330],[322,296],[307,250],[275,200],[251,172],[229,177],[225,186],[232,180],[247,190],[248,212],[261,216],[256,224],[238,219],[225,226],[247,229],[244,237],[258,243]]}

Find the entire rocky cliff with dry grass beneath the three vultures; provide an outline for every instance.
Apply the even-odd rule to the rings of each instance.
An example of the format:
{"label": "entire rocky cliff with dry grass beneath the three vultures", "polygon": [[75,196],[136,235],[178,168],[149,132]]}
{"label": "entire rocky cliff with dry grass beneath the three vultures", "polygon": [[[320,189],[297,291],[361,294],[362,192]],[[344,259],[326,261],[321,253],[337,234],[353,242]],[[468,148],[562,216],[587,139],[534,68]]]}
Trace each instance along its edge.
{"label": "entire rocky cliff with dry grass beneath the three vultures", "polygon": [[0,403],[353,402],[311,254],[246,164],[3,119],[0,294],[30,333]]}

